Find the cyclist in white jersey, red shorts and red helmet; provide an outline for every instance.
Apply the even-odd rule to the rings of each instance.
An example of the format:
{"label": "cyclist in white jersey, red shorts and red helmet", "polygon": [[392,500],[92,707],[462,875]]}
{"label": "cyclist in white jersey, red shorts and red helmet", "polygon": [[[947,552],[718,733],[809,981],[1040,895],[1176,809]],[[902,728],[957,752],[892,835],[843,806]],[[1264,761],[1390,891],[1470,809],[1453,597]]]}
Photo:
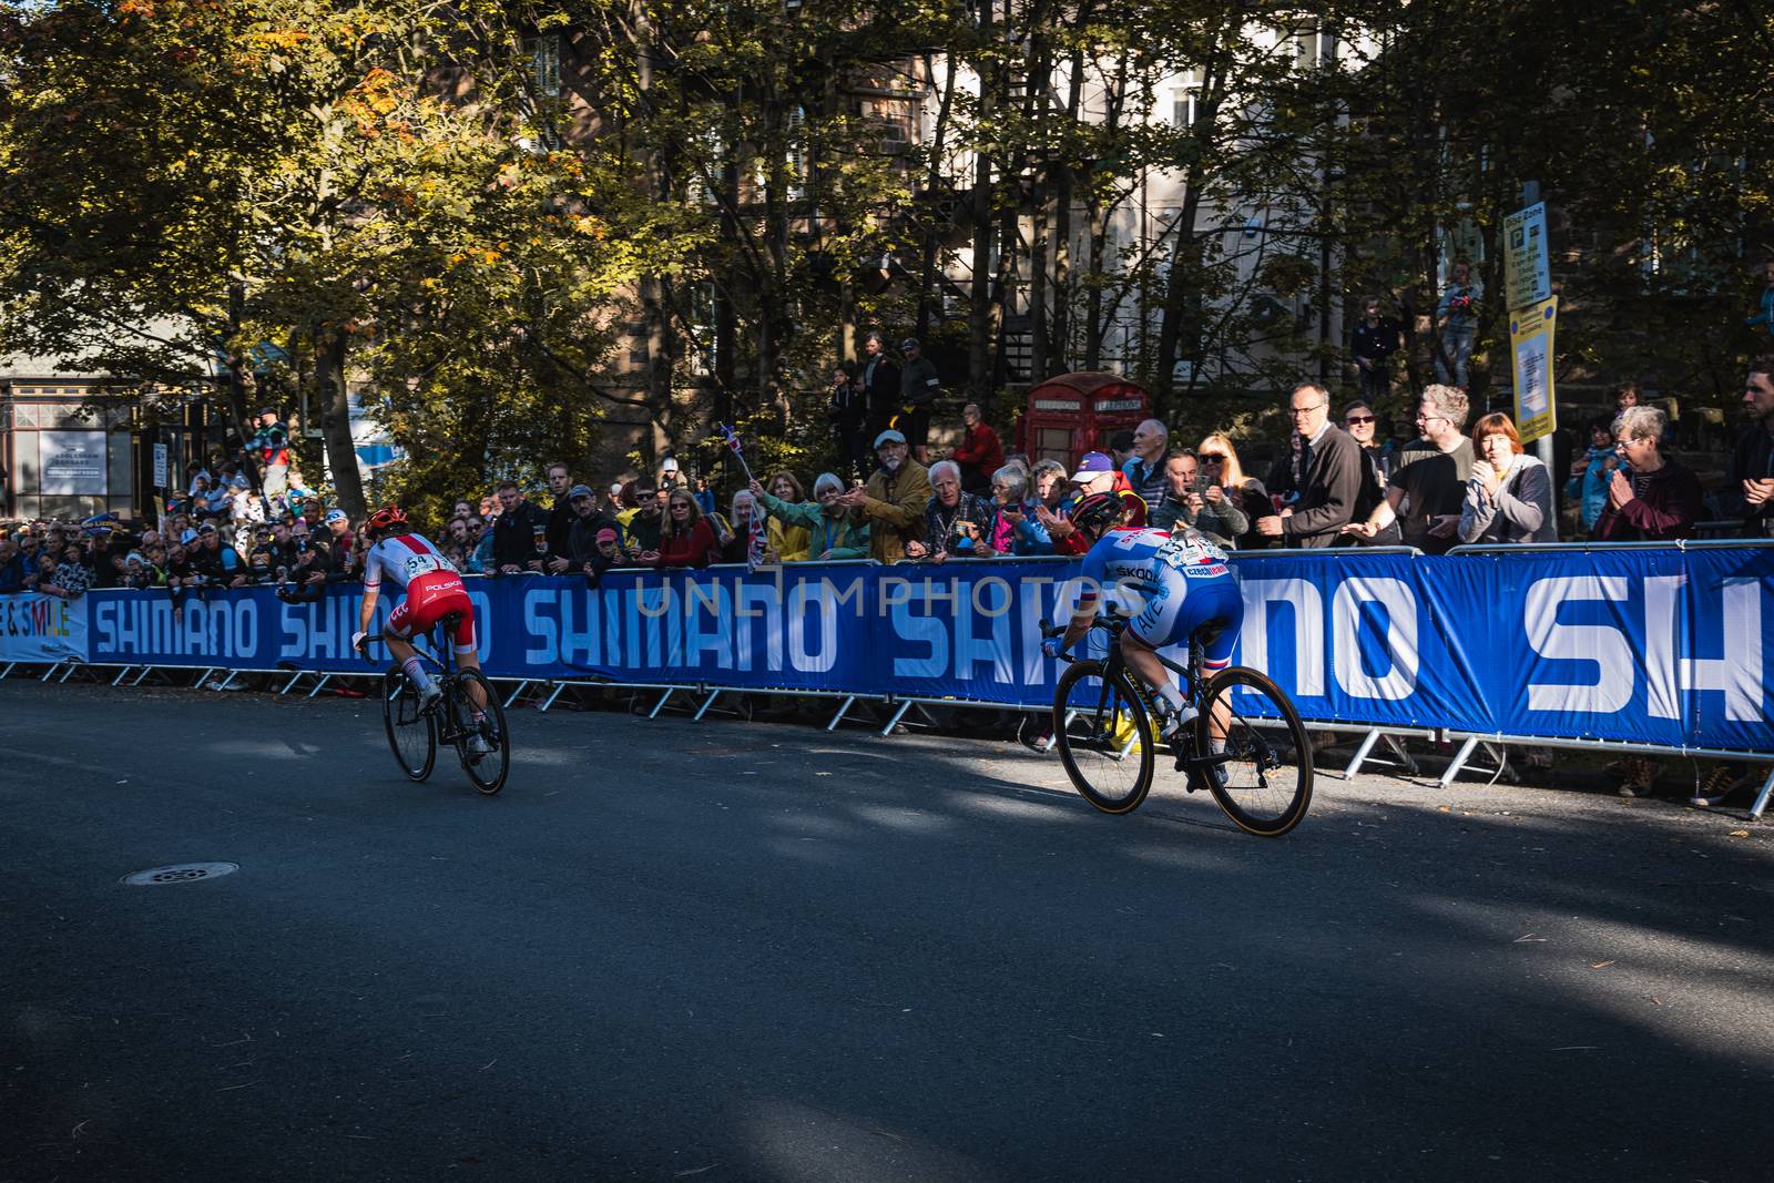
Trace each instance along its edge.
{"label": "cyclist in white jersey, red shorts and red helmet", "polygon": [[[364,608],[358,612],[358,633],[351,644],[357,649],[364,647],[369,624],[376,619],[376,601],[381,598],[383,582],[404,591],[406,598],[389,614],[381,639],[419,690],[419,701],[431,706],[444,692],[426,674],[412,637],[413,633],[429,633],[438,621],[456,612],[461,615],[452,637],[456,665],[481,669],[474,640],[474,601],[468,599],[468,591],[461,585],[461,573],[431,544],[431,539],[408,529],[406,514],[399,505],[387,505],[373,513],[364,523],[364,534],[369,536],[373,546],[364,555]],[[474,709],[474,722],[479,724],[486,717],[486,692],[481,683],[468,683],[468,702]],[[483,754],[491,750],[479,731],[468,747]]]}

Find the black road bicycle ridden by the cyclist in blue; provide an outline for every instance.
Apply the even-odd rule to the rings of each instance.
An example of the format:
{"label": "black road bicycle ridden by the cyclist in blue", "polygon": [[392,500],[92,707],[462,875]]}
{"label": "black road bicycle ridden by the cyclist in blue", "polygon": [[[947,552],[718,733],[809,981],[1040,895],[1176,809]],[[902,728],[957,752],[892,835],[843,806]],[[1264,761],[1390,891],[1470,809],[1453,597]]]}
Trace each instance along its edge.
{"label": "black road bicycle ridden by the cyclist in blue", "polygon": [[[1151,791],[1160,741],[1153,731],[1153,695],[1121,656],[1128,619],[1098,617],[1109,635],[1105,658],[1073,658],[1054,690],[1054,745],[1079,793],[1105,814],[1139,809]],[[1279,837],[1297,827],[1313,800],[1313,745],[1286,692],[1244,665],[1203,678],[1212,621],[1189,639],[1187,669],[1158,660],[1181,679],[1185,701],[1199,715],[1169,747],[1190,793],[1206,787],[1233,823],[1249,834]],[[1045,637],[1064,626],[1041,621]],[[1224,743],[1219,743],[1219,738]]]}

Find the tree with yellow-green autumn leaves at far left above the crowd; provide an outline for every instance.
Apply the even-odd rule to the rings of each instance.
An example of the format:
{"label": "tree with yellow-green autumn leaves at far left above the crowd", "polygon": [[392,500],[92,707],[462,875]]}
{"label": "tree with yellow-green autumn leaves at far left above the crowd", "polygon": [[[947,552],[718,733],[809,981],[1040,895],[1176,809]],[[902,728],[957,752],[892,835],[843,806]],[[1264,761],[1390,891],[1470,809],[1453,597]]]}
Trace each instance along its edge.
{"label": "tree with yellow-green autumn leaves at far left above the crowd", "polygon": [[[353,514],[360,367],[408,447],[403,491],[589,443],[610,312],[655,262],[624,218],[651,215],[600,161],[532,151],[497,11],[126,0],[5,28],[7,344],[158,381],[220,351],[241,426],[250,351],[279,342]],[[172,328],[131,342],[121,323]]]}

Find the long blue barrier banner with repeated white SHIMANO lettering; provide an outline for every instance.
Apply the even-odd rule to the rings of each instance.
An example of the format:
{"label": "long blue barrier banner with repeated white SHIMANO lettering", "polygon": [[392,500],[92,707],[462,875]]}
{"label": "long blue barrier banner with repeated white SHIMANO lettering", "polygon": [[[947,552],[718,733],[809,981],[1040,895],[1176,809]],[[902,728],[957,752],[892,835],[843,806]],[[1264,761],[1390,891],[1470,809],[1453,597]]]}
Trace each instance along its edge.
{"label": "long blue barrier banner with repeated white SHIMANO lettering", "polygon": [[[1774,548],[1235,555],[1236,660],[1320,722],[1774,752]],[[497,678],[1045,708],[1075,562],[468,580]],[[92,662],[362,672],[360,589],[87,594]],[[387,603],[387,601],[385,601]],[[381,608],[383,612],[387,607]],[[1181,654],[1178,654],[1181,656]]]}

